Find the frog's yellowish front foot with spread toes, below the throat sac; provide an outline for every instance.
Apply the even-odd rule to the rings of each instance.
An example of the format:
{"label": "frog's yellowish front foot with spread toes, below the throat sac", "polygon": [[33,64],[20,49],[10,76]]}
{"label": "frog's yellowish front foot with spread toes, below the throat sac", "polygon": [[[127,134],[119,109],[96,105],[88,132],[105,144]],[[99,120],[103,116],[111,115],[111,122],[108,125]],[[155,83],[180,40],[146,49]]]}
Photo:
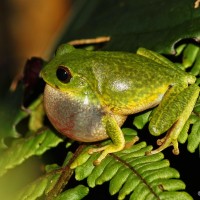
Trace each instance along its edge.
{"label": "frog's yellowish front foot with spread toes, below the throat sac", "polygon": [[100,148],[91,148],[89,149],[88,153],[93,154],[96,152],[101,152],[101,155],[98,157],[97,160],[94,161],[94,165],[99,165],[101,161],[109,154],[109,153],[114,153],[118,152],[120,150],[124,149],[124,145],[116,146],[114,144],[106,145]]}

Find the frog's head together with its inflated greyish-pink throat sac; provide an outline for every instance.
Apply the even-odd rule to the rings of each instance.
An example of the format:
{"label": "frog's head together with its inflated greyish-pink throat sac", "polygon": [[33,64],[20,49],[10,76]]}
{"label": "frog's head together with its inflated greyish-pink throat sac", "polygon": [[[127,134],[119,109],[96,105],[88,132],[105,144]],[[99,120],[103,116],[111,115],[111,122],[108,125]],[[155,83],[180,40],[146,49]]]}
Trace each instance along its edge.
{"label": "frog's head together with its inflated greyish-pink throat sac", "polygon": [[[102,112],[93,92],[91,79],[94,78],[89,78],[89,57],[90,52],[62,45],[41,71],[47,83],[43,101],[50,122],[63,135],[86,142],[102,139],[98,134],[90,139],[94,130],[92,124],[95,128],[97,124],[91,121],[100,123]],[[103,139],[106,136],[104,134]]]}

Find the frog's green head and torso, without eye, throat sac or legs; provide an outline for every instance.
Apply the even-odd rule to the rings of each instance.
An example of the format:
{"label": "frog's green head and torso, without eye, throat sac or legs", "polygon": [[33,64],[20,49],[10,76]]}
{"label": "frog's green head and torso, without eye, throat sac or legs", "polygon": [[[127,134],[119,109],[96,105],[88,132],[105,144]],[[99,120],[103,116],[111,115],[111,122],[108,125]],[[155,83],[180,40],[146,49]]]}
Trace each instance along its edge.
{"label": "frog's green head and torso, without eye, throat sac or legs", "polygon": [[[42,71],[44,80],[77,98],[85,95],[77,91],[84,85],[84,90],[96,94],[102,107],[118,114],[132,114],[153,107],[161,101],[169,86],[187,85],[192,77],[137,54],[78,49],[66,53],[67,50],[63,50],[66,45],[60,48]],[[59,65],[70,69],[73,82],[66,85],[56,78]]]}

